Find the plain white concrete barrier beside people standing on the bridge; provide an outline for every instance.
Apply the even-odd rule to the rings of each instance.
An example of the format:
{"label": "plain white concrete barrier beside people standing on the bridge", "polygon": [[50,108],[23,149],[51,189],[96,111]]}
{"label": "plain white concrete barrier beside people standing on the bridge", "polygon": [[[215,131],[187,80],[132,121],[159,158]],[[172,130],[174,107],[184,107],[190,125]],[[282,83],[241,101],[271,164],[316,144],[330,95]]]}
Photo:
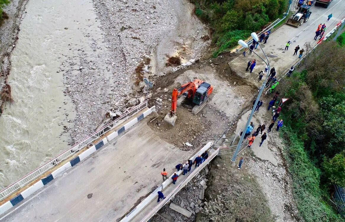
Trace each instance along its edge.
{"label": "plain white concrete barrier beside people standing on the bridge", "polygon": [[[207,151],[211,146],[213,145],[213,142],[208,142],[203,148],[201,148],[194,156],[190,157],[192,161],[198,156]],[[185,164],[183,164],[185,165]],[[183,173],[183,170],[180,170],[178,172],[175,172],[177,175],[181,175]],[[169,186],[172,183],[172,173],[167,180],[165,180],[161,185],[158,186],[156,190],[154,190],[149,196],[147,196],[143,201],[141,201],[129,214],[127,214],[120,222],[128,222],[132,220],[140,211],[142,211],[151,201],[154,199],[157,199],[158,191],[161,191],[162,189],[165,189],[167,186]]]}

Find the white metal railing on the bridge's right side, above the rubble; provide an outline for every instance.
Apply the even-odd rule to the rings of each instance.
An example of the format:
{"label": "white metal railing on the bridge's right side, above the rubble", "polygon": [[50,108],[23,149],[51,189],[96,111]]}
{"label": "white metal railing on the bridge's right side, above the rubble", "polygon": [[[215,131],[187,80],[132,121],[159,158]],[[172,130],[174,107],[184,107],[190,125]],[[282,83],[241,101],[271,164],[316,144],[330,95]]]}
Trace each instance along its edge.
{"label": "white metal railing on the bridge's right side, above the rubble", "polygon": [[219,148],[213,154],[211,154],[204,163],[195,168],[195,170],[193,170],[193,172],[191,172],[180,185],[178,185],[168,196],[166,196],[162,202],[160,202],[149,214],[147,214],[145,218],[141,220],[141,222],[147,222],[150,220],[150,218],[152,218],[152,216],[154,216],[166,203],[168,203],[191,179],[193,179],[195,175],[197,175],[211,160],[213,160],[218,153]]}

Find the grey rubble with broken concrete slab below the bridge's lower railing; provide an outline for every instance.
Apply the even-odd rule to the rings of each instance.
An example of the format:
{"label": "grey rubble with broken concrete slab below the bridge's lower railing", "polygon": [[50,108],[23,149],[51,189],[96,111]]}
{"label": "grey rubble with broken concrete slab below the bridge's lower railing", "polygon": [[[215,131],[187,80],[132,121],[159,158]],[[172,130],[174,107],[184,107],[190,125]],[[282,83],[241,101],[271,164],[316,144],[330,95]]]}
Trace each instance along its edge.
{"label": "grey rubble with broken concrete slab below the bridge's lower railing", "polygon": [[195,221],[195,214],[202,211],[205,204],[204,194],[205,189],[207,188],[207,174],[208,166],[201,170],[193,180],[178,192],[178,194],[171,199],[171,203],[166,204],[158,212],[159,216],[156,216],[153,221],[162,221],[160,216],[164,217],[168,221],[174,222]]}

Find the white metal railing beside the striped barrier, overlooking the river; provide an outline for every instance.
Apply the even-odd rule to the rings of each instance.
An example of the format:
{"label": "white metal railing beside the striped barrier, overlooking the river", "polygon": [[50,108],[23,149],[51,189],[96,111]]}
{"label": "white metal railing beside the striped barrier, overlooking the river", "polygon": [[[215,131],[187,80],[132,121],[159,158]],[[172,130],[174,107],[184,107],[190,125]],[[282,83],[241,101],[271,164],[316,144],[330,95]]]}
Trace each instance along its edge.
{"label": "white metal railing beside the striped barrier, overlooking the river", "polygon": [[112,121],[105,127],[101,128],[99,131],[91,134],[90,136],[86,137],[79,143],[73,145],[71,148],[67,149],[66,151],[62,152],[61,154],[57,155],[56,157],[52,158],[50,161],[46,162],[42,166],[38,167],[36,170],[32,171],[31,173],[27,174],[26,176],[22,177],[18,181],[12,183],[2,191],[0,191],[0,201],[4,198],[8,197],[15,191],[19,190],[23,186],[27,185],[28,183],[35,180],[37,177],[41,176],[42,174],[46,173],[48,170],[56,166],[57,164],[61,163],[62,161],[66,160],[76,152],[80,151],[88,144],[94,142],[96,139],[99,139],[104,134],[108,133],[112,129],[114,129],[119,124],[123,123],[126,119],[132,117],[133,115],[137,114],[140,110],[147,107],[147,100],[138,106],[131,109],[128,113],[120,116],[118,119]]}

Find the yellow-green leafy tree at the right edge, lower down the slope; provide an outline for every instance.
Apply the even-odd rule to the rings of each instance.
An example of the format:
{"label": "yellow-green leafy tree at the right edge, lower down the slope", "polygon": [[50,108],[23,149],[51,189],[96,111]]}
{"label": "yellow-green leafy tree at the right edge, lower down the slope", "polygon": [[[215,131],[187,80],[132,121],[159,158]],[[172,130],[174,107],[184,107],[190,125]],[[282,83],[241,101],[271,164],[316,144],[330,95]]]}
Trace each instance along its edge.
{"label": "yellow-green leafy tree at the right edge, lower down the slope", "polygon": [[345,186],[345,155],[344,151],[333,158],[324,158],[323,168],[329,183]]}

